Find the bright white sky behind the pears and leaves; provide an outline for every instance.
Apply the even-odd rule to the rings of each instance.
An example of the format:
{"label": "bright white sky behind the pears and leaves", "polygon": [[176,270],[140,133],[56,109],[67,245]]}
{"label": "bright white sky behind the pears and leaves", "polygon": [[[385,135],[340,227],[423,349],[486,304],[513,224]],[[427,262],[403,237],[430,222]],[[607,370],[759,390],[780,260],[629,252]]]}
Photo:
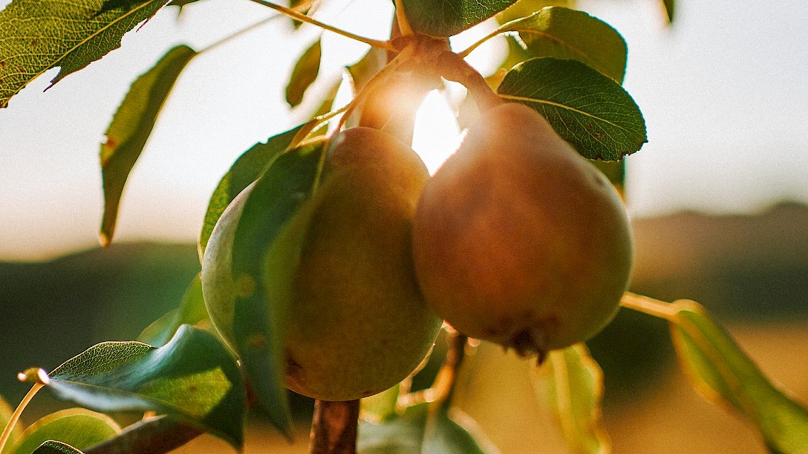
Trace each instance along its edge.
{"label": "bright white sky behind the pears and leaves", "polygon": [[[6,3],[0,0],[0,7]],[[656,3],[579,3],[629,44],[625,87],[643,111],[650,139],[628,160],[629,212],[748,212],[782,199],[808,202],[808,3],[678,0],[671,29]],[[389,23],[369,13],[380,5],[388,7],[355,0],[318,17],[381,39]],[[351,11],[370,19],[346,22]],[[125,36],[122,48],[43,93],[56,70],[44,74],[0,110],[0,260],[95,246],[99,143],[129,84],[173,44],[204,48],[275,14],[234,0],[187,6],[179,21],[175,12],[161,11]],[[191,61],[130,175],[117,240],[196,241],[208,196],[234,159],[309,115],[314,103],[290,112],[282,95],[294,58],[317,31],[304,27],[282,39],[287,29],[286,21],[276,21]],[[330,86],[340,65],[365,49],[326,33],[324,77],[316,87]],[[429,111],[447,108],[435,103]],[[436,128],[440,118],[421,124],[457,133],[451,125]],[[451,150],[457,137],[429,131],[415,146],[434,167],[440,158],[426,157],[427,145]]]}

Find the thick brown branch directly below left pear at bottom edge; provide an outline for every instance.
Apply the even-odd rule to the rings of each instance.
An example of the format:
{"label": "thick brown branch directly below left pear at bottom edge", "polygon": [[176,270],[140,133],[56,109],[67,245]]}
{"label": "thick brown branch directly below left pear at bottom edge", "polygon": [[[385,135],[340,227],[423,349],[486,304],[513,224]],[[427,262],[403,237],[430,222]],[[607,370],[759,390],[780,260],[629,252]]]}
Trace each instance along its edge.
{"label": "thick brown branch directly below left pear at bottom edge", "polygon": [[309,454],[356,454],[360,401],[314,401]]}

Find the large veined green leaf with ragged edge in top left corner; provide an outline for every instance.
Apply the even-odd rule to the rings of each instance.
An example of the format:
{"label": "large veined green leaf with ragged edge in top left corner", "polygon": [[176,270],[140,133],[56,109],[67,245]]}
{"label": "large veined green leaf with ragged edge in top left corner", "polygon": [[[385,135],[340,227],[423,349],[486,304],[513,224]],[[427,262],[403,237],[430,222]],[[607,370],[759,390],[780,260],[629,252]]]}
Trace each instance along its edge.
{"label": "large veined green leaf with ragged edge in top left corner", "polygon": [[0,107],[46,70],[51,86],[120,47],[166,0],[14,0],[0,11]]}

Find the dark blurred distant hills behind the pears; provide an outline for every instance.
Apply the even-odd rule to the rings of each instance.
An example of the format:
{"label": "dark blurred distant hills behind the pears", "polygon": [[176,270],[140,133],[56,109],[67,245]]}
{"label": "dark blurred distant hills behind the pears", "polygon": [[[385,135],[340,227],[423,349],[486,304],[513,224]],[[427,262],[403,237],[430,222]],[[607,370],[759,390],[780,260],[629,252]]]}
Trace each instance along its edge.
{"label": "dark blurred distant hills behind the pears", "polygon": [[[684,212],[633,227],[633,291],[693,299],[723,319],[808,318],[805,205],[755,216]],[[45,263],[0,263],[0,394],[22,396],[15,374],[23,368],[53,368],[95,343],[136,338],[177,305],[199,270],[190,244],[124,243]],[[590,347],[618,397],[671,357],[664,322],[629,310]]]}

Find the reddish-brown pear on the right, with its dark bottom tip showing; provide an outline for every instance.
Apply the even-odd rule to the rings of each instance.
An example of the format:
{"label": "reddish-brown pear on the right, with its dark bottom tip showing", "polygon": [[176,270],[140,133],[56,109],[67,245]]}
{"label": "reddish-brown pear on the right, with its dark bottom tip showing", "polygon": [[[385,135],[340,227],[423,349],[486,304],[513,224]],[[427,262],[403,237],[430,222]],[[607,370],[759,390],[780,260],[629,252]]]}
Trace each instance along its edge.
{"label": "reddish-brown pear on the right, with its dark bottom tip showing", "polygon": [[608,179],[536,111],[503,103],[424,187],[413,254],[446,322],[541,359],[612,319],[633,240]]}

